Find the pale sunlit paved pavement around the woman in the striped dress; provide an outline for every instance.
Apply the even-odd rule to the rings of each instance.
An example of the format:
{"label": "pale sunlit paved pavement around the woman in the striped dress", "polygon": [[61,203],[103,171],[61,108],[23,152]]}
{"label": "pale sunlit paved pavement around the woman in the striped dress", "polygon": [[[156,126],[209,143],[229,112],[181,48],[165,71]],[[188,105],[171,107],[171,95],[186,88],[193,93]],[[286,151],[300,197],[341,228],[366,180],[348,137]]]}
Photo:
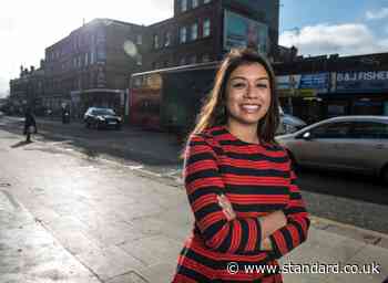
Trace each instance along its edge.
{"label": "pale sunlit paved pavement around the woman in the striped dress", "polygon": [[[0,135],[0,160],[18,165],[0,170],[1,283],[171,282],[193,221],[176,178],[55,144],[12,148],[20,136]],[[381,283],[388,235],[313,216],[308,240],[280,264],[295,272],[284,272],[286,283]]]}

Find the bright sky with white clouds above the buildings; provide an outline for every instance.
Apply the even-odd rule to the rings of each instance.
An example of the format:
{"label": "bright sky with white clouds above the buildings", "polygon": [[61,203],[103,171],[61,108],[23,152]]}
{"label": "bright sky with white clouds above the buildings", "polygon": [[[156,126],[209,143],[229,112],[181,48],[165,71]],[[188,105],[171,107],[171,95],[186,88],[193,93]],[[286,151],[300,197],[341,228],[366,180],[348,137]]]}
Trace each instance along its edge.
{"label": "bright sky with white clouds above the buildings", "polygon": [[[255,0],[252,0],[255,1]],[[259,0],[257,0],[259,1]],[[388,52],[388,0],[280,0],[279,43],[299,54]],[[173,0],[4,0],[0,10],[0,98],[20,65],[39,67],[44,49],[94,18],[151,24]]]}

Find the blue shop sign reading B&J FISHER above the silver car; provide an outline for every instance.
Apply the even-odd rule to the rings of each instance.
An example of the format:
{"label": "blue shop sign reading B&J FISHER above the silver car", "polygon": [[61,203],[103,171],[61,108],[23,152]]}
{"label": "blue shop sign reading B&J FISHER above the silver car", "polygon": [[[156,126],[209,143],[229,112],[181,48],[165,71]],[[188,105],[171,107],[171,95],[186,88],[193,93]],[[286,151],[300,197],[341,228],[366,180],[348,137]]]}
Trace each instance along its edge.
{"label": "blue shop sign reading B&J FISHER above the silver car", "polygon": [[365,93],[388,90],[388,71],[339,72],[336,75],[337,93]]}

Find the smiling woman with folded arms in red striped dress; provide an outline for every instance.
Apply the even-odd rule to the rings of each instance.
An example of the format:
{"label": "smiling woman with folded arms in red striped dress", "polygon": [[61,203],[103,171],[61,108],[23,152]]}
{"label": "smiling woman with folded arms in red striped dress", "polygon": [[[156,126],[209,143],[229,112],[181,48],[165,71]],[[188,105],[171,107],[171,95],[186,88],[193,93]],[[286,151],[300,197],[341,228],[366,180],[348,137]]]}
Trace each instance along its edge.
{"label": "smiling woman with folded arms in red striped dress", "polygon": [[253,50],[232,50],[184,151],[195,223],[173,283],[283,282],[277,260],[307,239],[309,218],[274,139],[278,123],[270,64]]}

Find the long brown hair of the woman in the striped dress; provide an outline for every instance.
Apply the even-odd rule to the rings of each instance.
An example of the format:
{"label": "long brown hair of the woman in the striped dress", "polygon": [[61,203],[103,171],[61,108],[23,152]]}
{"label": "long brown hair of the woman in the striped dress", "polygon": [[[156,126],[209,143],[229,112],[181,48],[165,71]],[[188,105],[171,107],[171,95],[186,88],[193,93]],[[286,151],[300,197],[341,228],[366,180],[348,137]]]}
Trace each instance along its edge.
{"label": "long brown hair of the woman in the striped dress", "polygon": [[[276,144],[275,133],[279,124],[279,102],[276,92],[276,77],[269,62],[252,49],[233,49],[223,60],[217,71],[214,87],[197,117],[192,134],[200,134],[207,128],[227,123],[226,85],[234,70],[241,65],[258,63],[264,66],[269,76],[270,104],[266,115],[258,122],[257,135],[261,142]],[[191,136],[190,135],[190,136]]]}

